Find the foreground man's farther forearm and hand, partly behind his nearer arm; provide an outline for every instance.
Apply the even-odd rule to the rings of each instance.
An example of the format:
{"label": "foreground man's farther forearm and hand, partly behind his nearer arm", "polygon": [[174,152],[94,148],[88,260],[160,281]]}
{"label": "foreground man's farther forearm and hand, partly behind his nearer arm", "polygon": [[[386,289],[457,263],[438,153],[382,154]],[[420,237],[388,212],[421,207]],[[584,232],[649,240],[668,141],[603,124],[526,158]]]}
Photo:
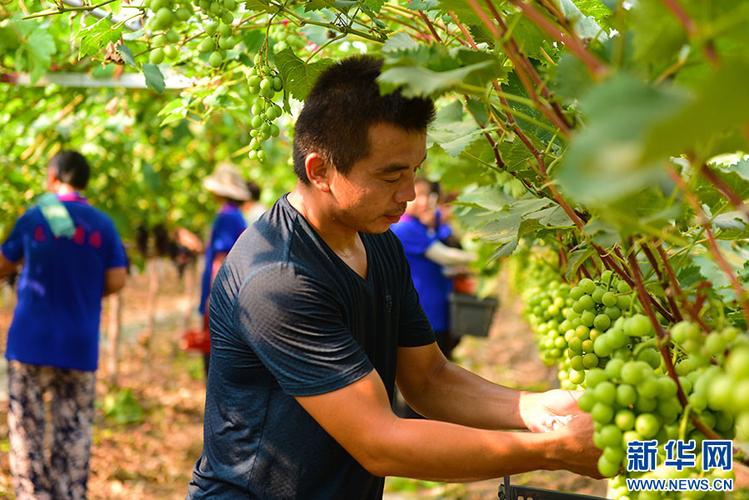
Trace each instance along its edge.
{"label": "foreground man's farther forearm and hand, partly behind his nearer arm", "polygon": [[425,417],[482,429],[548,431],[581,413],[575,393],[494,384],[448,361],[434,343],[398,349],[397,383]]}

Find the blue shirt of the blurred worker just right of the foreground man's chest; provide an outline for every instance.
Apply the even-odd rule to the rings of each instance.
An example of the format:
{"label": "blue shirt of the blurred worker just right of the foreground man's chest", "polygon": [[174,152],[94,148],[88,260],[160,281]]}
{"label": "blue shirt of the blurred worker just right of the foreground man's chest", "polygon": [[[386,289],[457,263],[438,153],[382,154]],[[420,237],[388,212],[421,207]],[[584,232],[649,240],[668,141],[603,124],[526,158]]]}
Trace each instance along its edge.
{"label": "blue shirt of the blurred worker just right of the foreground man's chest", "polygon": [[440,224],[437,230],[430,230],[414,217],[404,215],[391,229],[403,243],[411,277],[429,323],[435,332],[447,332],[450,329],[448,298],[452,281],[445,276],[440,264],[427,258],[426,251],[435,241],[444,242],[450,237],[449,226]]}

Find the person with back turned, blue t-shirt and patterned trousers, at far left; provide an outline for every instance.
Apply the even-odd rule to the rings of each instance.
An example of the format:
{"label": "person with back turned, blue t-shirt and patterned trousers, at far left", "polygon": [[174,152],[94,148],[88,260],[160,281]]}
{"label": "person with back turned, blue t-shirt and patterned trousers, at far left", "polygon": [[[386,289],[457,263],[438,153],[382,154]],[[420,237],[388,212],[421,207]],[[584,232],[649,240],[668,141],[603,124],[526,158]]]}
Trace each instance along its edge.
{"label": "person with back turned, blue t-shirt and patterned trousers, at far left", "polygon": [[114,224],[80,194],[89,173],[79,153],[58,153],[48,168],[49,193],[0,247],[0,278],[23,266],[5,351],[18,498],[86,496],[101,298],[124,286],[127,265]]}

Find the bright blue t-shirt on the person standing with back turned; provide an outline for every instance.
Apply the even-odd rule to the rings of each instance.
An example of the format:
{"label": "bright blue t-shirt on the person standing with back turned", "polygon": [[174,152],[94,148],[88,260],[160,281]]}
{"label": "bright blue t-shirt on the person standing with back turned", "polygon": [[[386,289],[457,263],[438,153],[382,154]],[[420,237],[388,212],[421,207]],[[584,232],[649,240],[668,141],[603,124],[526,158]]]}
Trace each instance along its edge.
{"label": "bright blue t-shirt on the person standing with back turned", "polygon": [[5,357],[95,371],[104,275],[126,266],[125,251],[109,217],[80,196],[60,199],[75,225],[72,238],[56,238],[32,207],[1,247],[9,261],[24,261]]}

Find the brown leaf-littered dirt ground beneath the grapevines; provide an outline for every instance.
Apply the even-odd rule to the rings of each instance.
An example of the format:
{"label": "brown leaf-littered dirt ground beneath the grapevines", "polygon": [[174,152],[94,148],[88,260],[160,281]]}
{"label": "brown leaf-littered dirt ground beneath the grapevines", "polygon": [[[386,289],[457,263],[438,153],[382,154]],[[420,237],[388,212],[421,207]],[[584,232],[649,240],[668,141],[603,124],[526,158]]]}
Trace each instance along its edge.
{"label": "brown leaf-littered dirt ground beneath the grapevines", "polygon": [[[94,500],[184,498],[193,463],[202,448],[205,398],[202,361],[176,347],[184,328],[185,311],[194,308],[195,300],[193,294],[186,295],[184,283],[177,278],[173,266],[163,266],[160,283],[150,352],[137,342],[146,324],[148,297],[147,276],[137,275],[124,293],[125,333],[119,388],[108,385],[105,370],[99,372],[100,406],[89,481],[89,497]],[[0,290],[0,337],[4,337],[12,313],[12,300],[8,296]],[[485,378],[512,387],[533,390],[553,387],[554,373],[539,361],[528,326],[519,315],[516,298],[504,292],[501,301],[489,338],[464,339],[456,350],[457,361]],[[102,323],[106,325],[106,307],[104,316]],[[4,348],[4,338],[0,342]],[[0,379],[5,384],[1,376]],[[105,417],[101,402],[108,394],[117,394],[122,389],[129,389],[141,407],[140,421],[121,424]],[[0,498],[13,496],[6,411],[7,404],[0,402]],[[599,496],[606,492],[604,481],[563,472],[522,474],[513,476],[512,482]],[[446,485],[388,478],[385,498],[489,499],[497,497],[498,485],[499,480]]]}

